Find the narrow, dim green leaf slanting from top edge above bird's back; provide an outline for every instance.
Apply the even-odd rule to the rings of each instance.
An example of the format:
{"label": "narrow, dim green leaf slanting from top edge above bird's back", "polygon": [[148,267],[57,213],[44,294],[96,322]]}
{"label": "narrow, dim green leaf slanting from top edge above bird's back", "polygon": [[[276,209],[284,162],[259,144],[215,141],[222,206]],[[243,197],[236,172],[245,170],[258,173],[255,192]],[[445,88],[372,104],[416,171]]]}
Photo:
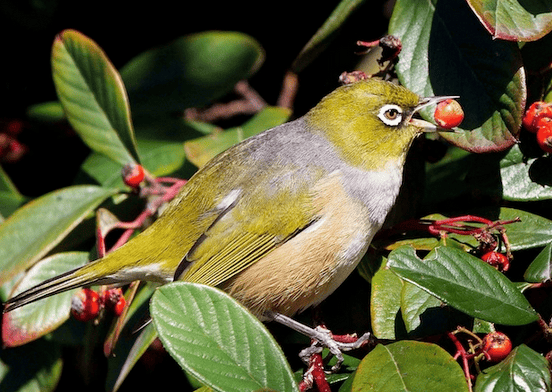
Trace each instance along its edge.
{"label": "narrow, dim green leaf slanting from top edge above bird's back", "polygon": [[305,69],[328,46],[339,28],[363,2],[364,0],[341,0],[324,24],[301,49],[291,65],[292,71],[299,73]]}

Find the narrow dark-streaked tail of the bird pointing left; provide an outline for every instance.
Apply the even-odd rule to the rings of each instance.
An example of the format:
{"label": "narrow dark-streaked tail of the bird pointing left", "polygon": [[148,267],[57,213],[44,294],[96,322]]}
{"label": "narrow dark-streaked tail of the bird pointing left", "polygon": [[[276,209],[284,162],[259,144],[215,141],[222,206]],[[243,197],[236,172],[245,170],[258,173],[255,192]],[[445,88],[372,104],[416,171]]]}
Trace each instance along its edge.
{"label": "narrow dark-streaked tail of the bird pointing left", "polygon": [[102,260],[103,259],[88,263],[83,267],[76,268],[54,278],[45,280],[44,282],[17,294],[5,302],[4,313],[17,309],[23,305],[27,305],[31,302],[38,301],[42,298],[59,294],[77,287],[114,283],[112,279],[106,277],[104,274],[99,275],[95,272],[97,270],[96,263]]}

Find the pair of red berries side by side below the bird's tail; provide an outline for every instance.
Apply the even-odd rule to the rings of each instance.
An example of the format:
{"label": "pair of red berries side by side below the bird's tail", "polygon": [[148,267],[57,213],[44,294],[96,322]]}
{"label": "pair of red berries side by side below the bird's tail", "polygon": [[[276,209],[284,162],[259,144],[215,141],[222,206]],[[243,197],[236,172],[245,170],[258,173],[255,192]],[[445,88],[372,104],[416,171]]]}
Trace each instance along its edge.
{"label": "pair of red berries side by side below the bird's tail", "polygon": [[120,316],[126,306],[123,291],[120,288],[112,288],[96,291],[84,288],[73,296],[71,300],[71,314],[79,321],[94,320],[102,309],[107,309],[115,316]]}

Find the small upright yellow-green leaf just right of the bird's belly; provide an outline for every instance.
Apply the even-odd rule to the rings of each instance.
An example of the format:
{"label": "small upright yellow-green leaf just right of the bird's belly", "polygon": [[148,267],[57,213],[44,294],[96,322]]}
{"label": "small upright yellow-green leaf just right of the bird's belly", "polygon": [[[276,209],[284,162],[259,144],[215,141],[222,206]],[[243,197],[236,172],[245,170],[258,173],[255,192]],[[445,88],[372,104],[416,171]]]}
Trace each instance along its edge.
{"label": "small upright yellow-green leaf just right of the bird's belly", "polygon": [[[378,339],[397,339],[403,281],[388,269],[381,268],[372,277],[370,318],[372,332]],[[403,328],[404,329],[404,328]]]}

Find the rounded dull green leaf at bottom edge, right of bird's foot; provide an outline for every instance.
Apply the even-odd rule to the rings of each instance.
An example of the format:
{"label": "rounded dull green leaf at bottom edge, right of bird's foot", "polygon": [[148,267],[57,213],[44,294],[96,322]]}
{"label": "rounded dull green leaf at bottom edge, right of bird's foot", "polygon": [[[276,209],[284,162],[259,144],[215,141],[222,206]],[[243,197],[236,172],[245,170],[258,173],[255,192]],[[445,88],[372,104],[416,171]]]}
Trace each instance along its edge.
{"label": "rounded dull green leaf at bottom edge, right of bird's foot", "polygon": [[441,347],[422,342],[378,344],[361,361],[352,392],[468,391],[460,365]]}

